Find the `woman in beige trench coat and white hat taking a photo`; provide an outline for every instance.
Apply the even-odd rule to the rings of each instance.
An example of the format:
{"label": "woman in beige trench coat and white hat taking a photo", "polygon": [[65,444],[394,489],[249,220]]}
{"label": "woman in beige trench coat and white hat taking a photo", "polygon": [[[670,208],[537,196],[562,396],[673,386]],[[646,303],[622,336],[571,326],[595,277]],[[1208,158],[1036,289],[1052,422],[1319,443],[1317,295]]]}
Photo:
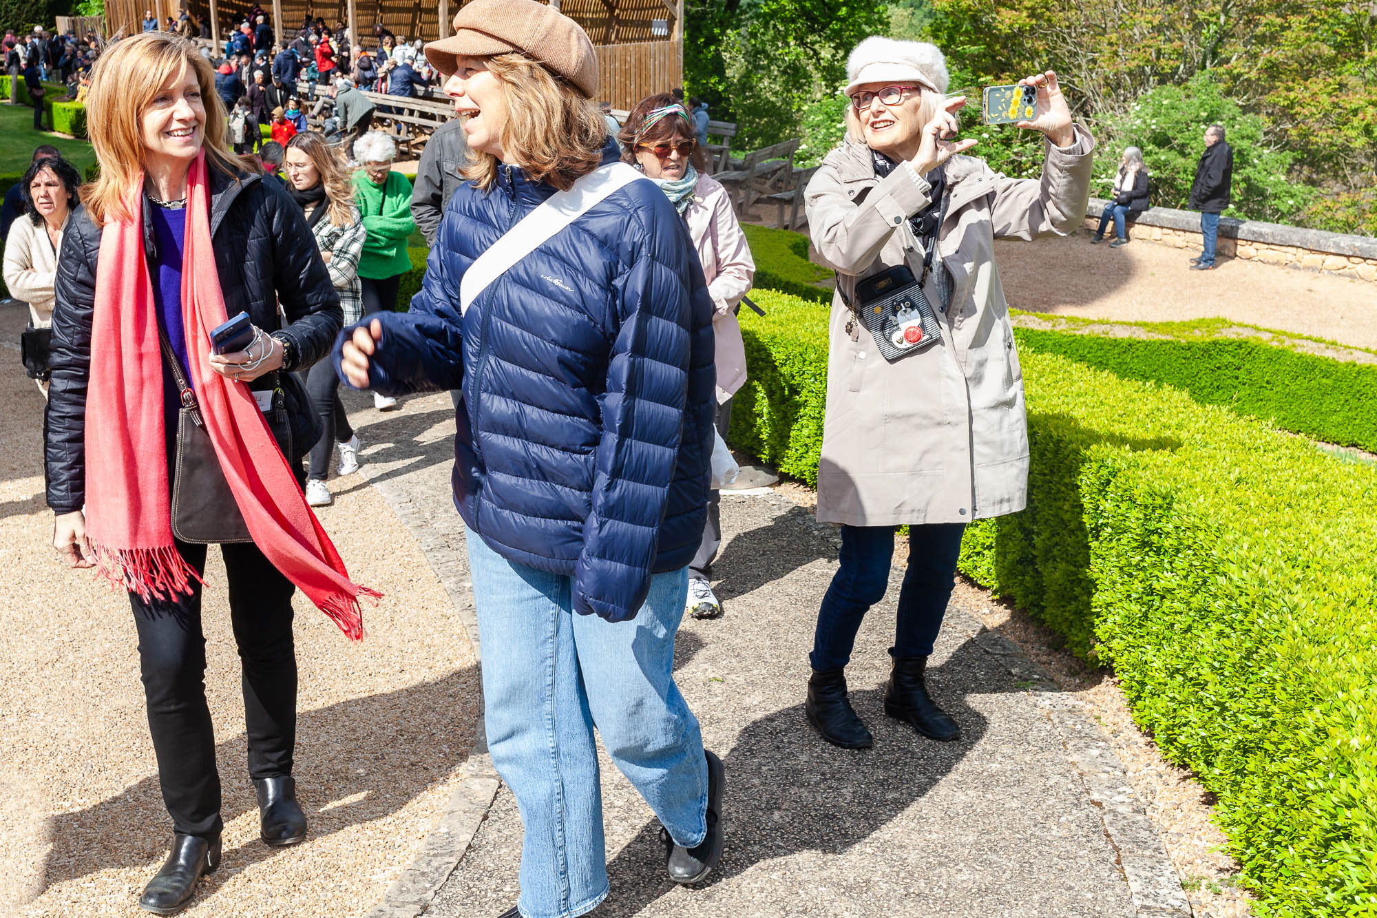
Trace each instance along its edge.
{"label": "woman in beige trench coat and white hat taking a photo", "polygon": [[[1037,110],[1016,127],[1047,136],[1047,161],[1040,179],[1009,179],[960,156],[975,141],[946,139],[965,99],[945,99],[936,47],[866,39],[847,70],[847,139],[807,190],[812,244],[837,270],[818,520],[841,525],[841,567],[818,613],[806,711],[828,742],[872,744],[847,700],[844,667],[861,620],[884,597],[894,528],[909,524],[884,711],[954,740],[960,726],[928,695],[924,670],[961,533],[971,520],[1022,510],[1027,489],[1023,380],[994,240],[1078,226],[1095,142],[1073,124],[1055,73],[1027,77]],[[909,332],[913,343],[891,363],[851,306],[866,307],[859,283],[895,266],[917,278],[936,334]]]}

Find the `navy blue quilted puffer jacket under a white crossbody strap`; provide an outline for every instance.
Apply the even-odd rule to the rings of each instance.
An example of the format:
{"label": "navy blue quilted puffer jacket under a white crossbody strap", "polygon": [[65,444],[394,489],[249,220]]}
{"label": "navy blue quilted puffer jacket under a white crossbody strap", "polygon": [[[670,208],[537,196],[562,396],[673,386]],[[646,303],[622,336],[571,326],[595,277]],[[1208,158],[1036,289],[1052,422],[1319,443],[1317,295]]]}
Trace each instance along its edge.
{"label": "navy blue quilted puffer jacket under a white crossbody strap", "polygon": [[[616,161],[611,143],[603,161]],[[459,187],[409,313],[380,318],[369,382],[463,389],[454,503],[503,557],[574,579],[620,622],[702,538],[715,411],[712,298],[684,222],[649,181],[589,210],[460,317],[460,278],[555,193],[515,167]],[[339,365],[340,343],[335,349]]]}

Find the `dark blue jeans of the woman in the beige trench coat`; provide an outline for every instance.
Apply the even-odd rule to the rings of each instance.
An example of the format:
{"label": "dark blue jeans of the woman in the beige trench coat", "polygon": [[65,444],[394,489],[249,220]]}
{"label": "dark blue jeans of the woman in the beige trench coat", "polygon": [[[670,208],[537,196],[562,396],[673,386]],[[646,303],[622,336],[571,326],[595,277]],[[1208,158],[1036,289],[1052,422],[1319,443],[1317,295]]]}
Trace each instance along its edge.
{"label": "dark blue jeans of the woman in the beige trench coat", "polygon": [[[872,605],[884,598],[894,558],[894,527],[841,527],[841,567],[822,597],[808,662],[834,670],[851,662],[851,648]],[[899,613],[890,656],[928,656],[942,629],[964,522],[909,527],[909,565],[899,589]]]}

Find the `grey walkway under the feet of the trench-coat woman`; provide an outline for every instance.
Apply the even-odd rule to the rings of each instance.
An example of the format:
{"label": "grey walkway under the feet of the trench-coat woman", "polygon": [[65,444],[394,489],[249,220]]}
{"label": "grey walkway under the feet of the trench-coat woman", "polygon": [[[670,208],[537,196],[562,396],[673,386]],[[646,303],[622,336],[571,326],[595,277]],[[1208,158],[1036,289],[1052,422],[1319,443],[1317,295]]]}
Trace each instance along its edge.
{"label": "grey walkway under the feet of the trench-coat woman", "polygon": [[[668,882],[658,823],[605,755],[613,893],[596,915],[1190,915],[1099,728],[960,602],[931,681],[965,739],[932,743],[880,711],[895,582],[848,669],[876,747],[823,743],[801,692],[818,597],[836,569],[830,529],[779,495],[726,499],[723,527],[727,615],[686,622],[676,670],[727,765],[727,855],[704,888]],[[425,915],[505,911],[519,850],[504,787]]]}

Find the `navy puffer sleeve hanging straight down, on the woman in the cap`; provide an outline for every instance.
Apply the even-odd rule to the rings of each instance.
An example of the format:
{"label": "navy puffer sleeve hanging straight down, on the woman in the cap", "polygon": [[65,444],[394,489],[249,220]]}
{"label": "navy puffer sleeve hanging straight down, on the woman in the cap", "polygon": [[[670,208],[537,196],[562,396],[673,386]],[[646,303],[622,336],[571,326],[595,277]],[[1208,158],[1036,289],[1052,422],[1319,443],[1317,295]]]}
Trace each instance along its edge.
{"label": "navy puffer sleeve hanging straight down, on the woman in the cap", "polygon": [[[701,278],[668,198],[636,208],[642,233],[616,285],[614,338],[600,396],[592,510],[574,565],[574,611],[631,619],[646,601],[669,485],[675,477],[688,389],[694,298]],[[661,219],[661,210],[669,218]],[[636,230],[632,230],[636,232]],[[701,280],[698,281],[701,283]],[[706,309],[706,298],[700,298]]]}

